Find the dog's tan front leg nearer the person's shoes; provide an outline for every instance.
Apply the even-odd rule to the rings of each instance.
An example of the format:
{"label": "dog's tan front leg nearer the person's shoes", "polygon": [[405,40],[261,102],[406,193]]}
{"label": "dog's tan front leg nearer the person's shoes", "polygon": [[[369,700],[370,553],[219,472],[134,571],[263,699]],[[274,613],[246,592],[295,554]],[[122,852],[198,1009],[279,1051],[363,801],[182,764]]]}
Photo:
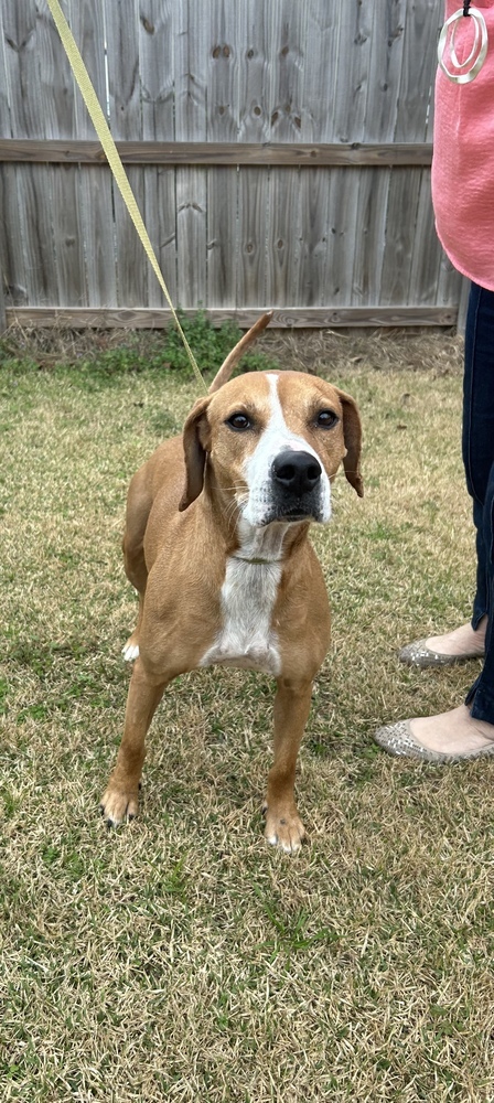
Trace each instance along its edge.
{"label": "dog's tan front leg nearer the person's shoes", "polygon": [[297,757],[311,707],[312,681],[278,678],[275,698],[275,761],[268,774],[266,838],[283,850],[298,850],[305,834],[293,788]]}

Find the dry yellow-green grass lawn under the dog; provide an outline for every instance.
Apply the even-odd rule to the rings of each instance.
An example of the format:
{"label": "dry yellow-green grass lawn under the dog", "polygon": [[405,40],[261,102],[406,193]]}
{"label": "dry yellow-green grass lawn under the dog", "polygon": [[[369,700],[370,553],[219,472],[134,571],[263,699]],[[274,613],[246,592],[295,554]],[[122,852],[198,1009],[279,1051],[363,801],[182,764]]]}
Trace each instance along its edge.
{"label": "dry yellow-green grass lawn under the dog", "polygon": [[477,670],[396,660],[469,614],[459,342],[261,344],[325,365],[365,426],[366,496],[339,479],[314,531],[333,643],[300,757],[310,842],[290,859],[262,839],[272,689],[255,674],[178,679],[139,818],[99,818],[136,610],[126,486],[195,388],[144,361],[112,371],[115,338],[93,339],[93,376],[87,336],[82,355],[66,339],[68,364],[21,339],[0,373],[2,1099],[494,1100],[494,763],[401,762],[372,740],[457,704]]}

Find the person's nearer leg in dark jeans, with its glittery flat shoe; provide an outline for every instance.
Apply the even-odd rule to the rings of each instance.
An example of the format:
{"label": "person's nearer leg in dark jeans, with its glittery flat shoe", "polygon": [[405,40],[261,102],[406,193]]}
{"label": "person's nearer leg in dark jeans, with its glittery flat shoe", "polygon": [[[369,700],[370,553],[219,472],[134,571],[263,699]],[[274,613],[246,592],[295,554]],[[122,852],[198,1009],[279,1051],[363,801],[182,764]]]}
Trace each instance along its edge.
{"label": "person's nearer leg in dark jeans, with its glittery flat shoe", "polygon": [[459,708],[380,729],[377,741],[395,753],[414,754],[414,742],[418,749],[457,758],[493,748],[494,291],[476,286],[472,286],[465,338],[463,459],[476,526],[477,586],[471,629],[486,627],[484,667]]}

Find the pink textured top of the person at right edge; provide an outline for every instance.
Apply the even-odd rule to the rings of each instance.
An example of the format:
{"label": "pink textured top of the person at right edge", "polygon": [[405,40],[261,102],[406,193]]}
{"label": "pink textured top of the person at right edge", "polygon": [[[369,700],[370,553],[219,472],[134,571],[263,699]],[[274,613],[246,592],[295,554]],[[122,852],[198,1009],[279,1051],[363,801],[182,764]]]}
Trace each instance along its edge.
{"label": "pink textured top of the person at right edge", "polygon": [[[494,291],[494,0],[474,0],[487,24],[487,56],[470,84],[452,84],[438,68],[436,81],[432,201],[440,242],[455,268]],[[449,18],[463,4],[447,0]],[[470,53],[472,30],[462,19]],[[465,24],[463,26],[463,24]]]}

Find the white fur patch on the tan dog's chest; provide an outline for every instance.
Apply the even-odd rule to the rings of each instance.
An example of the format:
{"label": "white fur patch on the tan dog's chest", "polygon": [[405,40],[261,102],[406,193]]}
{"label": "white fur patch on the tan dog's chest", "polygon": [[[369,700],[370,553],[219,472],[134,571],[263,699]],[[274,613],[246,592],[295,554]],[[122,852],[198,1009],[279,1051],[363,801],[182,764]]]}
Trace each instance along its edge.
{"label": "white fur patch on the tan dog's chest", "polygon": [[281,668],[271,618],[281,566],[232,557],[222,587],[223,625],[201,666],[216,663],[277,675]]}

